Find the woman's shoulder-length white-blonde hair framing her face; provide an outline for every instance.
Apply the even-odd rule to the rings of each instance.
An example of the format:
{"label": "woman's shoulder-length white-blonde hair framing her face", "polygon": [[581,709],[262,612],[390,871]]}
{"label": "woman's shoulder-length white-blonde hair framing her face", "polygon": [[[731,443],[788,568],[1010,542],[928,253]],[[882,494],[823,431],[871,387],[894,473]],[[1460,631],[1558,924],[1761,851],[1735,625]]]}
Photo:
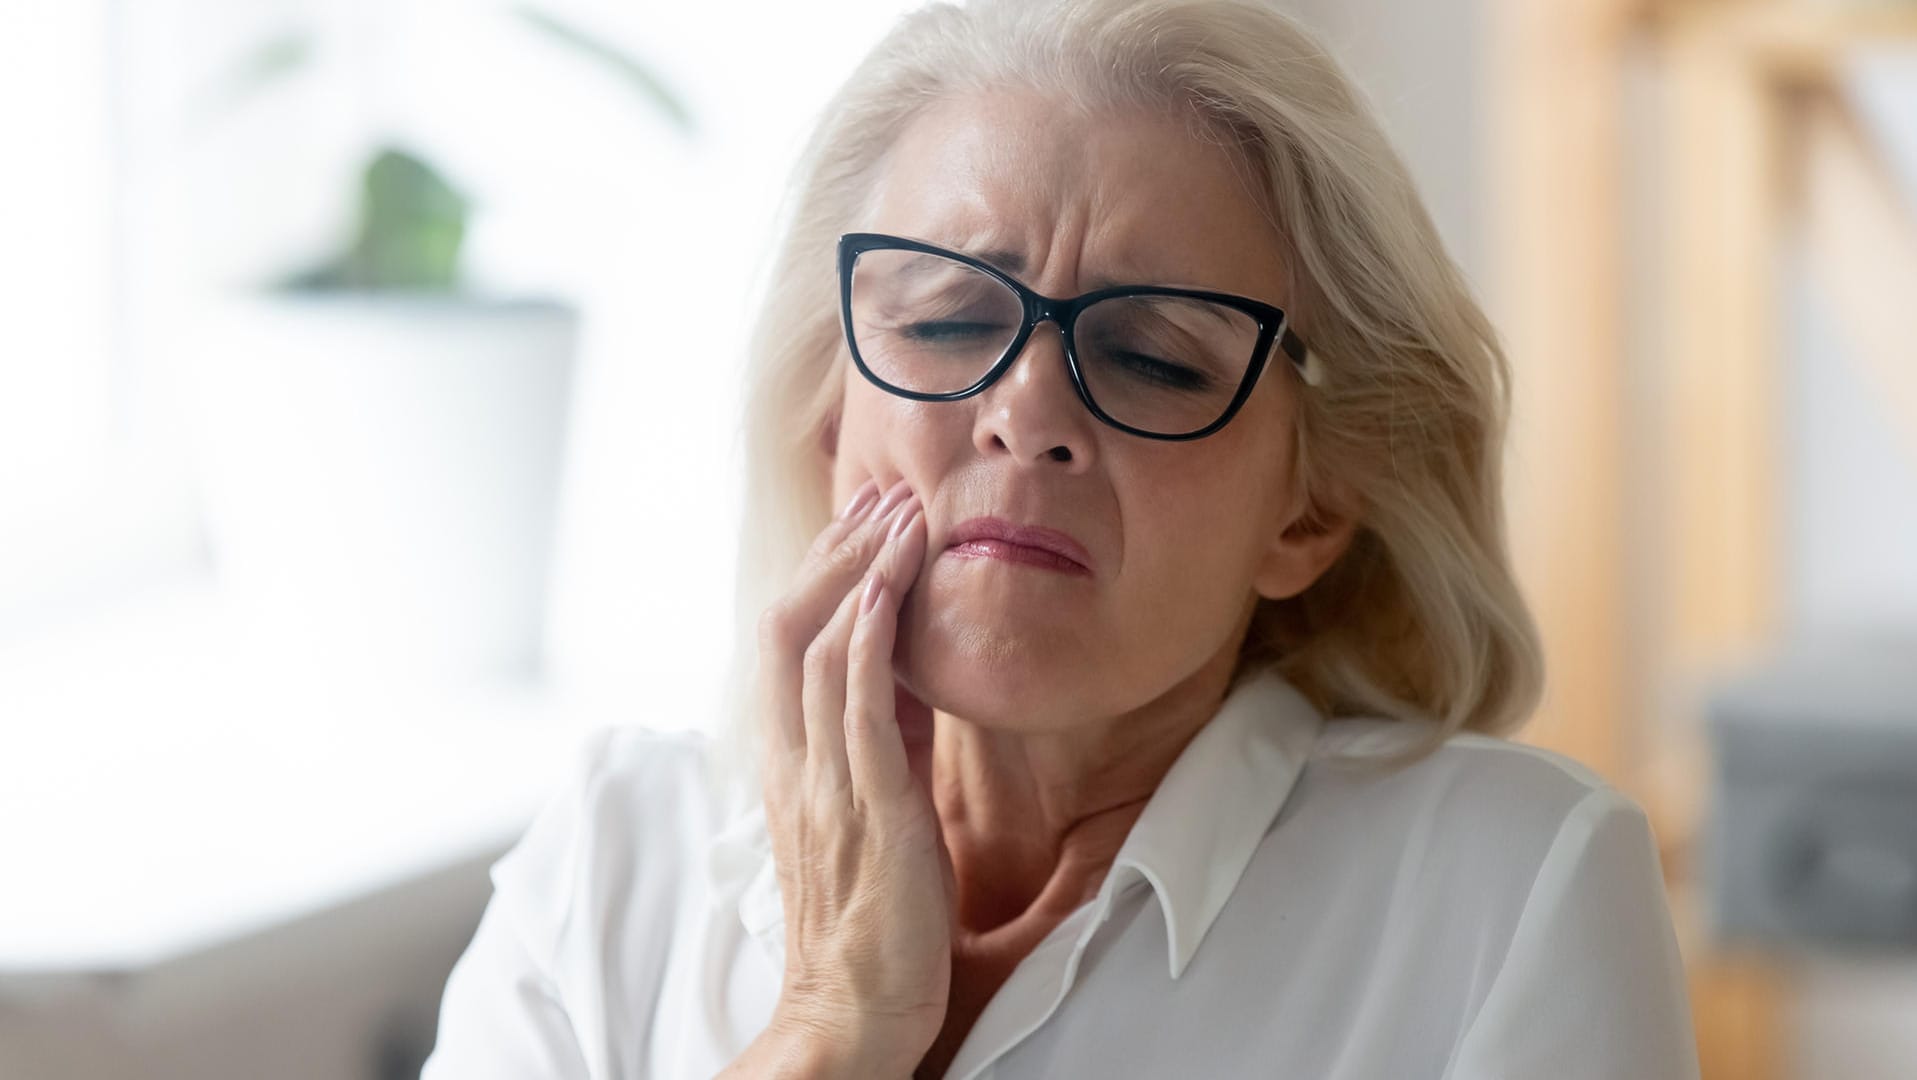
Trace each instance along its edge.
{"label": "woman's shoulder-length white-blonde hair framing her face", "polygon": [[753,326],[746,535],[727,727],[755,773],[761,612],[832,516],[842,364],[834,247],[888,150],[928,106],[1026,88],[1087,115],[1156,107],[1233,150],[1281,238],[1286,311],[1317,364],[1296,395],[1292,483],[1348,512],[1346,552],[1304,593],[1258,602],[1235,681],[1279,669],[1327,716],[1505,733],[1543,689],[1537,627],[1505,543],[1511,370],[1411,178],[1350,79],[1259,0],[930,4],[859,63],[820,115],[782,207]]}

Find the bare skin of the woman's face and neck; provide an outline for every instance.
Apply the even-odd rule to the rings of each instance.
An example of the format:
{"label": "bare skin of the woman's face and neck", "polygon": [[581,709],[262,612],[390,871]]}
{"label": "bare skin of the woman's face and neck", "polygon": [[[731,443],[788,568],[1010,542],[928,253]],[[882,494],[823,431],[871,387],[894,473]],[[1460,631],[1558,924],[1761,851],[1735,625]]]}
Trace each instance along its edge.
{"label": "bare skin of the woman's face and neck", "polygon": [[[943,242],[989,223],[1047,295],[1150,270],[1123,276],[1288,301],[1281,240],[1233,152],[1177,111],[1083,123],[1035,92],[953,98],[901,134],[878,192],[855,228]],[[842,359],[832,503],[868,478],[905,478],[926,506],[926,564],[893,660],[901,687],[934,708],[932,796],[958,884],[947,1030],[928,1057],[939,1061],[1010,969],[1097,894],[1215,716],[1258,599],[1304,591],[1351,522],[1292,528],[1300,384],[1286,363],[1267,366],[1223,430],[1171,443],[1100,424],[1049,322],[964,401],[889,395]],[[943,554],[951,528],[980,514],[1070,531],[1095,575]]]}

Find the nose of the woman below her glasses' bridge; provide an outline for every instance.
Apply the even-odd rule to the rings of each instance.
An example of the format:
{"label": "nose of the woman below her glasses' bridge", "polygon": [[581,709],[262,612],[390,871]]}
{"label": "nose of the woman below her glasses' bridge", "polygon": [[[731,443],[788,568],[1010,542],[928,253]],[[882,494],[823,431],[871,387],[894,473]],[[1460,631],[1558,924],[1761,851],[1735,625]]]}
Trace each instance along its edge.
{"label": "nose of the woman below her glasses' bridge", "polygon": [[1095,424],[1066,368],[1064,334],[1047,318],[995,384],[978,395],[972,443],[982,455],[1014,462],[1054,460],[1072,472],[1091,468]]}

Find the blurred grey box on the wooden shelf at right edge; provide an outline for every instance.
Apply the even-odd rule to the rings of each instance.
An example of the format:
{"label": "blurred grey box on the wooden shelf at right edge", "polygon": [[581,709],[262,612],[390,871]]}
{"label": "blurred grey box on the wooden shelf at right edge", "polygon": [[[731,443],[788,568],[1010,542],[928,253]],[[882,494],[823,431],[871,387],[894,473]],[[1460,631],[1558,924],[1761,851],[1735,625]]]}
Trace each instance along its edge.
{"label": "blurred grey box on the wooden shelf at right edge", "polygon": [[1917,953],[1917,629],[1819,641],[1710,700],[1712,928]]}

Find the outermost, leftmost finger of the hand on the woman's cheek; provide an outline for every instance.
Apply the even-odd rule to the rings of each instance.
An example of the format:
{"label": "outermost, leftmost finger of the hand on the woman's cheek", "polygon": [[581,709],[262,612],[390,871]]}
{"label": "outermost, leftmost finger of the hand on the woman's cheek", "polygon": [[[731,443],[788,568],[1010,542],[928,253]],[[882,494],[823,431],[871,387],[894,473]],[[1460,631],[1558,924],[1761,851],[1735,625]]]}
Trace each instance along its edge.
{"label": "outermost, leftmost finger of the hand on the woman's cheek", "polygon": [[759,618],[759,716],[773,729],[767,733],[767,750],[788,763],[805,756],[805,648],[872,560],[889,510],[907,495],[911,489],[903,481],[884,497],[876,481],[866,481],[819,533],[799,564],[794,587]]}

